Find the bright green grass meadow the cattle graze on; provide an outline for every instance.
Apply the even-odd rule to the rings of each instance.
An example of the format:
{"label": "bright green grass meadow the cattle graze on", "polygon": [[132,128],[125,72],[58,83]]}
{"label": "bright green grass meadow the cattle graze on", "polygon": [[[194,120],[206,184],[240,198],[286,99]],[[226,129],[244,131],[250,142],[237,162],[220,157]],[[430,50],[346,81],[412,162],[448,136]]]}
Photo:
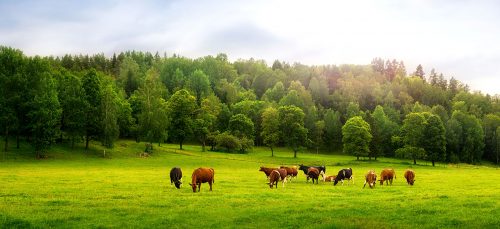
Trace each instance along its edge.
{"label": "bright green grass meadow the cattle graze on", "polygon": [[[267,148],[248,154],[200,152],[199,146],[155,145],[140,158],[144,143],[119,141],[102,157],[54,147],[34,160],[28,146],[0,161],[0,228],[498,228],[500,170],[487,166],[413,166],[410,161],[299,153],[270,157]],[[270,189],[260,166],[325,164],[327,174],[351,167],[354,185],[297,180]],[[169,171],[182,168],[184,186],[170,185]],[[215,169],[210,192],[193,193],[191,173]],[[392,167],[393,186],[363,189],[364,174]],[[416,173],[414,186],[403,178]]]}

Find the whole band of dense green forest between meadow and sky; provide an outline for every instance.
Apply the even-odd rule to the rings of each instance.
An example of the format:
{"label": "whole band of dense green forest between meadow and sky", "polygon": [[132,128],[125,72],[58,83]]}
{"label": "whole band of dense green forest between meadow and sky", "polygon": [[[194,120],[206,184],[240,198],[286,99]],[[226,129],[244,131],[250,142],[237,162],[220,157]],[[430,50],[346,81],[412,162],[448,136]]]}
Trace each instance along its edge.
{"label": "whole band of dense green forest between meadow and sky", "polygon": [[[226,54],[196,59],[127,51],[26,56],[0,46],[4,152],[119,138],[245,153],[286,146],[347,155],[498,164],[500,95],[402,60],[319,65]],[[206,149],[207,148],[207,149]]]}

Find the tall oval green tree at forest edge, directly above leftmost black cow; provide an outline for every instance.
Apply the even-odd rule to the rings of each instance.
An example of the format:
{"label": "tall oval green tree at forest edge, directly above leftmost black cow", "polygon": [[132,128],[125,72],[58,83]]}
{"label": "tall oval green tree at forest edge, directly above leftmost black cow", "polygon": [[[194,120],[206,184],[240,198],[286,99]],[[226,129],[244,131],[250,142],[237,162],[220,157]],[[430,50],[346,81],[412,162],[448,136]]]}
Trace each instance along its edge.
{"label": "tall oval green tree at forest edge, directly above leftmost black cow", "polygon": [[185,89],[175,92],[168,100],[170,110],[170,136],[182,143],[193,134],[193,116],[196,109],[196,99]]}

